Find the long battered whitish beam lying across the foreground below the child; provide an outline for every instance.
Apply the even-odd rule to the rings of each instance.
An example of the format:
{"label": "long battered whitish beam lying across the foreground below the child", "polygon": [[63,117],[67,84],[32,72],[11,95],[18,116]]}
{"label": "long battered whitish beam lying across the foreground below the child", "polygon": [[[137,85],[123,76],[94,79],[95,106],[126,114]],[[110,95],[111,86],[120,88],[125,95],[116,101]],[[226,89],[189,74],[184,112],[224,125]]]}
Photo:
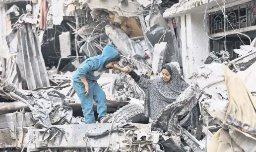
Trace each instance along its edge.
{"label": "long battered whitish beam lying across the foreground below the child", "polygon": [[[24,127],[25,130],[27,130],[24,134],[24,143],[27,143],[29,140],[35,137],[39,137],[36,140],[33,141],[33,143],[30,146],[25,146],[29,149],[45,149],[45,148],[86,148],[86,143],[83,140],[84,138],[88,139],[87,145],[90,145],[92,148],[107,148],[110,144],[110,149],[113,151],[117,150],[128,150],[130,145],[126,141],[132,141],[132,138],[134,137],[132,134],[129,134],[126,131],[116,131],[111,132],[110,135],[107,136],[96,136],[96,137],[87,137],[86,133],[94,133],[94,134],[100,134],[102,131],[106,129],[111,128],[111,123],[95,123],[95,124],[75,124],[75,125],[54,125],[54,127],[62,130],[64,132],[64,135],[67,138],[67,141],[65,140],[64,135],[60,136],[60,134],[56,135],[56,132],[50,132],[50,135],[47,136],[46,140],[42,140],[43,133],[46,131],[46,129],[36,129],[34,127]],[[114,123],[112,126],[112,129],[118,130],[118,128],[132,128],[132,133],[136,134],[137,137],[140,139],[142,136],[146,137],[146,141],[148,144],[155,144],[159,141],[159,134],[151,133],[150,124],[133,124],[133,123],[127,123],[127,124],[121,124],[121,123]],[[10,140],[7,145],[0,143],[0,148],[11,148],[15,147],[15,139],[11,138],[11,132],[9,131],[9,128],[6,129],[0,129],[0,138],[4,136],[2,132],[6,132],[8,137],[5,137]],[[21,135],[20,135],[20,128],[17,128],[17,139],[18,141],[21,141]],[[55,137],[53,137],[55,136]],[[61,139],[60,139],[61,137]],[[1,142],[4,141],[0,139]],[[52,140],[51,140],[52,139]],[[140,142],[138,139],[138,142]],[[61,141],[61,142],[60,142]],[[133,144],[136,142],[134,141]],[[143,141],[142,143],[143,144]],[[139,145],[139,144],[137,144]],[[20,147],[20,143],[18,144],[18,147]],[[142,147],[142,146],[141,146]],[[87,147],[88,148],[88,147]]]}

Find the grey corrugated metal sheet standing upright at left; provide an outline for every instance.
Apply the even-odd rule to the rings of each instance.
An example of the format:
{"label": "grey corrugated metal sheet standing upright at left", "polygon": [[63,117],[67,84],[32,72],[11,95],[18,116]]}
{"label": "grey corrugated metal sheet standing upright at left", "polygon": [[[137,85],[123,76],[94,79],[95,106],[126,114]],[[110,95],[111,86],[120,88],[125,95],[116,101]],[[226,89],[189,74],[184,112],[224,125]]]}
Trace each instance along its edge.
{"label": "grey corrugated metal sheet standing upright at left", "polygon": [[33,90],[50,86],[38,36],[30,23],[20,24],[17,29],[17,74],[22,88]]}

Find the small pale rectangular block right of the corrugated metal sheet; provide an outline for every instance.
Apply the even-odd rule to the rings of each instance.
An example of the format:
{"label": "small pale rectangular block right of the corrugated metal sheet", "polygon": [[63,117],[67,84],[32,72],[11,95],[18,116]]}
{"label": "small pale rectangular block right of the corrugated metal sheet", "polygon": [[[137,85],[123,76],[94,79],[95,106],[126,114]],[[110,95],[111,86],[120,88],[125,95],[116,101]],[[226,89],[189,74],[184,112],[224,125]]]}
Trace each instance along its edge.
{"label": "small pale rectangular block right of the corrugated metal sheet", "polygon": [[64,32],[60,35],[59,38],[60,38],[61,56],[67,57],[71,55],[70,33]]}

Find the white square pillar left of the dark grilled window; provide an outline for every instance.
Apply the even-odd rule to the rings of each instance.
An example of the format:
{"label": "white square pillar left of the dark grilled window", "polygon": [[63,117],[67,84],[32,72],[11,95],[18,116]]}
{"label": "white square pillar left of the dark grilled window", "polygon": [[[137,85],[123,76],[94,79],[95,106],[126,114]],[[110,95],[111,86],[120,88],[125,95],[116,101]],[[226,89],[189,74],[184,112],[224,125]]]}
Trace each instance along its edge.
{"label": "white square pillar left of the dark grilled window", "polygon": [[209,54],[209,38],[203,28],[203,13],[181,16],[182,62],[185,80]]}

